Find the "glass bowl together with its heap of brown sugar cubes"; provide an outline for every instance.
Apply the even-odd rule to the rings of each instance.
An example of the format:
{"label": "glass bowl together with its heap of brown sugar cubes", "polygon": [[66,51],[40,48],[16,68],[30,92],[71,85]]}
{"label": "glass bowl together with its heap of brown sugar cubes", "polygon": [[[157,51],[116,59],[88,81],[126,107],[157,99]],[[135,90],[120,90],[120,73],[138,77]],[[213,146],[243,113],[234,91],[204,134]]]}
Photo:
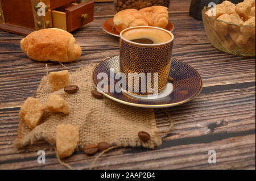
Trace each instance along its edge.
{"label": "glass bowl together with its heap of brown sugar cubes", "polygon": [[214,47],[238,56],[255,56],[255,0],[244,0],[237,5],[224,1],[204,7],[202,18]]}

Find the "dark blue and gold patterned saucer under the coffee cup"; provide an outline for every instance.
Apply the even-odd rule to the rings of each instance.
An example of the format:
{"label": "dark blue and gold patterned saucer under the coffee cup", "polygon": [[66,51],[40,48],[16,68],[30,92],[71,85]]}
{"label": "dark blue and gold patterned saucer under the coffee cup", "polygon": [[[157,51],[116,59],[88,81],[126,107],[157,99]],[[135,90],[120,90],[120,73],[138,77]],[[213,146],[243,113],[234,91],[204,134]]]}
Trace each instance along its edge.
{"label": "dark blue and gold patterned saucer under the coffee cup", "polygon": [[[110,77],[110,69],[113,68],[115,73],[119,71],[119,56],[114,56],[102,61],[93,71],[93,82],[97,87],[101,79],[97,79],[99,73],[106,73]],[[135,107],[161,108],[173,107],[192,100],[200,94],[203,88],[202,79],[195,69],[175,58],[172,58],[170,76],[174,78],[173,83],[168,83],[166,90],[159,96],[135,96],[125,91],[121,92],[103,92],[107,98],[116,102],[127,104]]]}

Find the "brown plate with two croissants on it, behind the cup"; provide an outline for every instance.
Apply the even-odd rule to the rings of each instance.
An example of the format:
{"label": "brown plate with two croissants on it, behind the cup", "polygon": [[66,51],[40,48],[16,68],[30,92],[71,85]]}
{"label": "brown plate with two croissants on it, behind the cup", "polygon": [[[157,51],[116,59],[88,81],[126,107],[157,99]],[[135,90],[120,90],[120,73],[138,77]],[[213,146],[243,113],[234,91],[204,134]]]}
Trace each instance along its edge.
{"label": "brown plate with two croissants on it, behind the cup", "polygon": [[117,37],[122,30],[135,26],[154,26],[172,32],[174,24],[168,18],[168,9],[164,6],[145,7],[141,10],[126,9],[119,11],[113,18],[105,20],[102,29]]}

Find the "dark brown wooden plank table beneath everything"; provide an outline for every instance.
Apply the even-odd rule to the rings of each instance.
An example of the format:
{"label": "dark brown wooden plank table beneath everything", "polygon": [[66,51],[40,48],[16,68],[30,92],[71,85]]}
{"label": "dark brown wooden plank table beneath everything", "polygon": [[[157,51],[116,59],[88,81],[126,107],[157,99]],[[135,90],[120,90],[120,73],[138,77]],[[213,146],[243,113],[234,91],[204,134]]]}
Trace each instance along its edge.
{"label": "dark brown wooden plank table beneath everything", "polygon": [[[171,0],[170,20],[175,24],[173,56],[193,66],[202,76],[203,91],[191,102],[168,108],[174,129],[155,150],[121,148],[109,151],[96,169],[255,169],[255,57],[220,52],[212,47],[203,23],[188,14],[189,0]],[[73,32],[82,56],[68,68],[101,62],[119,53],[119,39],[101,24],[114,15],[113,3],[95,3],[92,23]],[[46,62],[27,58],[20,49],[22,36],[0,31],[0,169],[67,169],[45,142],[16,150],[18,112],[28,96],[35,96]],[[64,70],[47,62],[49,71]],[[155,110],[159,129],[170,124]],[[37,151],[46,150],[46,164],[38,164]],[[216,162],[208,163],[208,151]],[[82,151],[63,161],[74,169],[88,169],[95,156]]]}

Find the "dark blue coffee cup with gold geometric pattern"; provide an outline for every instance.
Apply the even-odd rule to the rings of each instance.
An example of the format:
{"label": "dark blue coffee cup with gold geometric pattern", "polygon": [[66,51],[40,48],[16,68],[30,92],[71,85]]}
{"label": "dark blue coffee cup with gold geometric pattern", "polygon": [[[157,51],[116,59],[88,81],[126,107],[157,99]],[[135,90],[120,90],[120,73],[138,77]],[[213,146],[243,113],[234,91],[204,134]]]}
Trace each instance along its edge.
{"label": "dark blue coffee cup with gold geometric pattern", "polygon": [[[170,35],[170,39],[163,43],[143,44],[123,36],[127,31],[140,31],[139,28],[163,31]],[[135,95],[151,95],[164,90],[170,72],[173,41],[174,35],[171,32],[157,27],[131,27],[120,33],[119,64],[120,72],[126,75],[126,91]]]}

